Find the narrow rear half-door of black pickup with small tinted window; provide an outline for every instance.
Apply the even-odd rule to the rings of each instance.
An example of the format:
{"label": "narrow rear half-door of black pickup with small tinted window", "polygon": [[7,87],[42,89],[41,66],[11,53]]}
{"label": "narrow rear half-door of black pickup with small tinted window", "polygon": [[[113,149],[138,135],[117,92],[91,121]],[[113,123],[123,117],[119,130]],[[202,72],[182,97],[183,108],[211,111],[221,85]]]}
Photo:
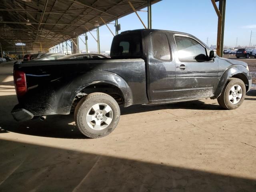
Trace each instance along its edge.
{"label": "narrow rear half-door of black pickup with small tinted window", "polygon": [[175,81],[175,62],[167,32],[144,31],[147,90],[150,102],[168,102]]}

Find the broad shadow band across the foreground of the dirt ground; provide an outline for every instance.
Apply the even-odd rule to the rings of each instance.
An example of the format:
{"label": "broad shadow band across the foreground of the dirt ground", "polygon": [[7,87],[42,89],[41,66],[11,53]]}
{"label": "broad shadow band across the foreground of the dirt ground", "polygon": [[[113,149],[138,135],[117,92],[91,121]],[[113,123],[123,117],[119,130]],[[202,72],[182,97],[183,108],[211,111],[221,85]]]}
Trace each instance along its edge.
{"label": "broad shadow band across the foreground of the dirt ground", "polygon": [[256,180],[8,140],[0,140],[0,151],[0,191],[252,192],[256,189]]}

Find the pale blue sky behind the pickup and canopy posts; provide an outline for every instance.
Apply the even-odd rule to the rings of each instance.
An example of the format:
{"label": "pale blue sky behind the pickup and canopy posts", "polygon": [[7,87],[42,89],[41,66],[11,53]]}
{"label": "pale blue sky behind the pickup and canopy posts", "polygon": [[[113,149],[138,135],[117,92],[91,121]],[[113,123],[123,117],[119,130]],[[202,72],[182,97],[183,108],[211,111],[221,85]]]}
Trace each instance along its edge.
{"label": "pale blue sky behind the pickup and canopy posts", "polygon": [[[218,6],[218,3],[217,3]],[[143,10],[147,10],[144,8]],[[138,11],[144,24],[147,12]],[[115,33],[114,21],[108,26]],[[121,30],[144,28],[135,13],[118,19]],[[216,45],[218,17],[211,0],[162,0],[152,5],[152,28],[174,30],[192,34],[208,45]],[[226,0],[226,19],[224,46],[249,46],[252,31],[252,45],[256,45],[256,0],[244,4],[242,0]],[[106,26],[99,28],[100,50],[110,50],[113,35]],[[97,37],[96,31],[92,34]],[[97,51],[97,43],[87,33],[88,50]],[[84,36],[80,36],[84,40]],[[237,43],[236,43],[237,40]],[[84,43],[79,39],[80,50],[85,50]],[[70,48],[69,48],[70,50]]]}

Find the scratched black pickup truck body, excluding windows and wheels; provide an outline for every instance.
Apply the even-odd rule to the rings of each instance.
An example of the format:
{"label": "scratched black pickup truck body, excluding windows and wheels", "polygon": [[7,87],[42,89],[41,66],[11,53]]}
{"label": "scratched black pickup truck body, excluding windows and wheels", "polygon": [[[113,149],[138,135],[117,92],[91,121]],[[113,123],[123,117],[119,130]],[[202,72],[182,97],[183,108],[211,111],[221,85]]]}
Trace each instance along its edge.
{"label": "scratched black pickup truck body, excluding windows and wheels", "polygon": [[[169,60],[154,56],[150,34],[155,32],[166,34],[171,54]],[[94,87],[98,84],[118,88],[124,107],[217,98],[228,78],[236,74],[245,77],[247,90],[250,90],[252,78],[244,62],[218,56],[204,62],[180,61],[174,36],[193,38],[209,49],[194,36],[145,29],[124,32],[116,37],[130,33],[141,36],[142,54],[138,58],[124,56],[88,60],[32,60],[14,64],[14,70],[26,74],[27,84],[26,94],[18,96],[19,104],[12,112],[13,115],[14,112],[17,114],[16,120],[50,114],[69,114],[76,96],[88,86]],[[186,68],[182,70],[180,66]],[[22,109],[22,113],[29,112],[26,113],[26,118],[22,119],[23,114],[18,114],[19,109]]]}

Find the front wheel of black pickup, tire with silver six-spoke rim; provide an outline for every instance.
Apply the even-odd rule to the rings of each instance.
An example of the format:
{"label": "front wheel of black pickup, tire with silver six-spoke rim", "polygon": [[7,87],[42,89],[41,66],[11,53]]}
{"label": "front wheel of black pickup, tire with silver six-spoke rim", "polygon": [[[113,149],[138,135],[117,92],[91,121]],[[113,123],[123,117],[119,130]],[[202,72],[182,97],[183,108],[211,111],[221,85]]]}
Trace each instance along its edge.
{"label": "front wheel of black pickup, tire with silver six-spoke rim", "polygon": [[245,94],[246,87],[244,82],[238,78],[230,78],[217,100],[220,106],[232,110],[238,108],[243,103]]}

